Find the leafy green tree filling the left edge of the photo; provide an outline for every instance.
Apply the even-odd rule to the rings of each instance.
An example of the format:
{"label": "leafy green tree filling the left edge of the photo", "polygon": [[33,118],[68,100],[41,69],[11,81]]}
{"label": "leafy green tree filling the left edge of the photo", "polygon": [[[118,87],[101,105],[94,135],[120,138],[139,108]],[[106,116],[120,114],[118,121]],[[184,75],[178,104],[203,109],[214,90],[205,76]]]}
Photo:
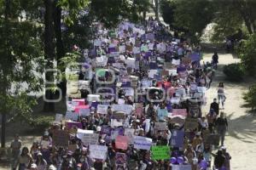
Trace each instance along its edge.
{"label": "leafy green tree filling the left edge of the photo", "polygon": [[[0,0],[0,113],[1,147],[5,147],[5,126],[11,116],[29,119],[36,99],[31,92],[42,90],[40,44],[42,27],[31,20],[38,15],[35,4]],[[22,4],[23,6],[20,6]],[[31,11],[26,14],[22,11]],[[22,17],[22,18],[21,18]]]}

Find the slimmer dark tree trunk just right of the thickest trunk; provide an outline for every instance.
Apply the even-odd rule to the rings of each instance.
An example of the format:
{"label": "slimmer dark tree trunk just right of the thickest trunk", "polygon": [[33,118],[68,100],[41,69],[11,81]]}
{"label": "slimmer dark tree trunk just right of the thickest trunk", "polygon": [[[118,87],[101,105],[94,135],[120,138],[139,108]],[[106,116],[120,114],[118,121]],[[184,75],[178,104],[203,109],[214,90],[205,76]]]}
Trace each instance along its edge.
{"label": "slimmer dark tree trunk just right of the thickest trunk", "polygon": [[[54,10],[54,24],[55,24],[55,38],[56,38],[56,55],[57,55],[57,65],[60,65],[60,59],[65,56],[65,48],[62,41],[61,35],[61,8],[57,6],[55,2],[55,10]],[[67,80],[65,77],[65,68],[61,66],[61,83],[58,84],[58,87],[61,88],[62,97],[65,98],[67,94]]]}

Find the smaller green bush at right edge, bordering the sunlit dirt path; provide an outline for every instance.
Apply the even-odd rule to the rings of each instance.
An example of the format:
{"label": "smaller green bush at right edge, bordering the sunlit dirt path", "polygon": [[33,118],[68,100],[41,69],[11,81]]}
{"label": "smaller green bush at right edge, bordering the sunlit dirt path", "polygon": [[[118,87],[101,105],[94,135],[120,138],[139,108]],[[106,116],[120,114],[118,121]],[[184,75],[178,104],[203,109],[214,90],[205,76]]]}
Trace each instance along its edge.
{"label": "smaller green bush at right edge, bordering the sunlit dirt path", "polygon": [[254,110],[256,107],[256,84],[251,86],[247,93],[243,94],[243,99],[246,102],[246,106]]}

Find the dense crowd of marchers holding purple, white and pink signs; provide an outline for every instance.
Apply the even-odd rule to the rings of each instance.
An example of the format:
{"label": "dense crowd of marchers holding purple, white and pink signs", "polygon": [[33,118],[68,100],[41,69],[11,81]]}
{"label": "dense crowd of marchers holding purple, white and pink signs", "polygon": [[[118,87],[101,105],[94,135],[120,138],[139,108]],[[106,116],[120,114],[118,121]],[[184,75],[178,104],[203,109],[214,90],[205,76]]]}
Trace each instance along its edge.
{"label": "dense crowd of marchers holding purple, white and pink signs", "polygon": [[[92,94],[87,87],[81,99],[67,101],[65,118],[55,120],[30,150],[16,135],[12,169],[230,170],[224,146],[228,122],[219,109],[224,84],[203,113],[214,65],[201,64],[200,47],[184,37],[163,37],[164,30],[156,20],[146,27],[124,21],[114,31],[99,24],[79,73],[80,81],[90,81]],[[112,83],[97,81],[113,77]],[[98,95],[97,88],[115,93]]]}

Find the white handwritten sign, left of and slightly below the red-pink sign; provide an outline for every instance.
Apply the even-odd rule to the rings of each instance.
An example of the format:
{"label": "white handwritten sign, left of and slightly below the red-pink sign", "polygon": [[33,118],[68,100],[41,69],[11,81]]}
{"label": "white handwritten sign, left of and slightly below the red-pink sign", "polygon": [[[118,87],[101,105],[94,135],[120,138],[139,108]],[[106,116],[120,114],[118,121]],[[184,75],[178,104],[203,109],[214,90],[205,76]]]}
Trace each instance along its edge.
{"label": "white handwritten sign, left of and slightly below the red-pink sign", "polygon": [[90,144],[90,158],[105,161],[108,147],[103,145]]}

